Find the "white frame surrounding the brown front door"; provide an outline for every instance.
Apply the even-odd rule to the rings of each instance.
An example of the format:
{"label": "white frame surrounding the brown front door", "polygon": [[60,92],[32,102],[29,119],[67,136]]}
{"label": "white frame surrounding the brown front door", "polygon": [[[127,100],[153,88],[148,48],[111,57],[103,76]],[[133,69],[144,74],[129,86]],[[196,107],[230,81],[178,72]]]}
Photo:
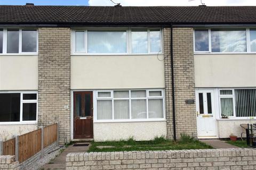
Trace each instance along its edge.
{"label": "white frame surrounding the brown front door", "polygon": [[[81,141],[84,139],[74,139],[74,92],[75,91],[81,91],[81,92],[86,92],[86,91],[91,91],[92,92],[92,103],[93,103],[93,108],[95,108],[95,92],[94,90],[70,90],[70,140],[71,141]],[[94,109],[92,111],[92,115],[93,115],[93,127],[94,127]],[[93,128],[93,137],[94,137],[94,128]],[[90,140],[90,139],[86,139],[86,140]]]}

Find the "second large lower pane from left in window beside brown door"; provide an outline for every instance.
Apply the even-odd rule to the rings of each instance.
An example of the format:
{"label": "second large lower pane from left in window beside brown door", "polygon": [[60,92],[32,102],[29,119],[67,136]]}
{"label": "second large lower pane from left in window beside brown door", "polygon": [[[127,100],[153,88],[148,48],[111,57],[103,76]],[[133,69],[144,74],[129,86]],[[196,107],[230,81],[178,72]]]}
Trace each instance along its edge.
{"label": "second large lower pane from left in window beside brown door", "polygon": [[129,100],[114,100],[115,119],[129,119]]}

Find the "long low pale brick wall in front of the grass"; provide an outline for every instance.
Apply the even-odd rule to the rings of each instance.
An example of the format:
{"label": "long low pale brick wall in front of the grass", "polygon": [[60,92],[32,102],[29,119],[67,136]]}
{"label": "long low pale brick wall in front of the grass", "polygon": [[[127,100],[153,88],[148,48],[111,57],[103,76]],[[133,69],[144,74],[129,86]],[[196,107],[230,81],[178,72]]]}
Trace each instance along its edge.
{"label": "long low pale brick wall in front of the grass", "polygon": [[256,150],[239,148],[72,153],[66,157],[66,170],[71,169],[256,169]]}

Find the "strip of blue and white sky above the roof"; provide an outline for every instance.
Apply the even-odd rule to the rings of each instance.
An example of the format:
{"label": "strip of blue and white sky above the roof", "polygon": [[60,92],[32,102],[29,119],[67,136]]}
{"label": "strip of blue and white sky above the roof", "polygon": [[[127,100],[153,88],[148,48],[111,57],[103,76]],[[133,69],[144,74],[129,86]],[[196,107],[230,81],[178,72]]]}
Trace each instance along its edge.
{"label": "strip of blue and white sky above the roof", "polygon": [[[113,0],[122,6],[197,6],[201,0]],[[255,0],[202,0],[207,6],[256,6]],[[0,5],[91,5],[113,6],[110,0],[0,0]]]}

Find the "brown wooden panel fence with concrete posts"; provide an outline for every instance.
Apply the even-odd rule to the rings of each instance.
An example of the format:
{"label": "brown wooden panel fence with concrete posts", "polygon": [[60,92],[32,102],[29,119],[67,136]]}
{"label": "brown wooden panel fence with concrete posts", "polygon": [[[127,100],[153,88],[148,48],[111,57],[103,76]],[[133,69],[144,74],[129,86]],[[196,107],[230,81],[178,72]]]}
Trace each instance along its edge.
{"label": "brown wooden panel fence with concrete posts", "polygon": [[55,141],[57,142],[57,145],[59,145],[58,131],[58,123],[55,123],[4,142],[0,141],[0,155],[15,155],[20,163],[40,151],[41,156],[43,156],[44,148],[50,146]]}

